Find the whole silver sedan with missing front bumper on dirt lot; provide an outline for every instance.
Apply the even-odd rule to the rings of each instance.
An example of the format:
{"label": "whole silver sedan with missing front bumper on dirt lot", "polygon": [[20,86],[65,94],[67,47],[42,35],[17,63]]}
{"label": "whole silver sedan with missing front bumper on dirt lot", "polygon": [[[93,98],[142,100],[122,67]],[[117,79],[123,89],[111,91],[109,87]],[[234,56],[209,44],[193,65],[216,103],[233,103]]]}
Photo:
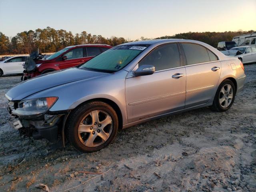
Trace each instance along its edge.
{"label": "whole silver sedan with missing front bumper on dirt lot", "polygon": [[[112,142],[118,128],[211,106],[228,110],[244,86],[244,66],[203,42],[129,42],[76,67],[27,80],[6,93],[10,123],[82,152]],[[210,112],[210,111],[209,111]]]}

